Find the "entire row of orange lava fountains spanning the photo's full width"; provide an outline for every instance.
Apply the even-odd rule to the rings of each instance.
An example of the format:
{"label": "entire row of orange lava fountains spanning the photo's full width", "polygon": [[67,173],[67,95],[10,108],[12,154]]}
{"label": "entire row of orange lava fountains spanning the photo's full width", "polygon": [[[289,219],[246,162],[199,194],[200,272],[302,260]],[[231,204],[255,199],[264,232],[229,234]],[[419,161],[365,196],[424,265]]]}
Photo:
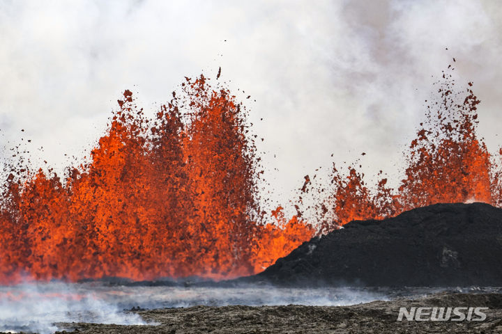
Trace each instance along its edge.
{"label": "entire row of orange lava fountains spanning the photo's full width", "polygon": [[[22,279],[134,280],[233,278],[261,271],[314,234],[353,219],[386,218],[436,202],[502,205],[500,164],[476,135],[480,102],[453,90],[449,74],[406,152],[397,189],[386,178],[367,186],[355,166],[333,167],[328,184],[305,177],[314,194],[312,225],[282,207],[271,218],[259,205],[259,157],[247,113],[229,90],[201,76],[155,118],[129,90],[88,162],[61,179],[10,166],[0,210],[0,283]],[[14,154],[17,155],[17,154]],[[317,190],[317,191],[316,191]]]}

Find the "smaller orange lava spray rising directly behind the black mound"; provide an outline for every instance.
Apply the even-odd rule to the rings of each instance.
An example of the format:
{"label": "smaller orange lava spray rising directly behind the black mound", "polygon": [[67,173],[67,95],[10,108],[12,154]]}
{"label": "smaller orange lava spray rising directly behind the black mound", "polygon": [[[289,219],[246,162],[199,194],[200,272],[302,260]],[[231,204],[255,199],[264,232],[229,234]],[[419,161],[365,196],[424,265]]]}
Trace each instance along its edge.
{"label": "smaller orange lava spray rising directly behind the black mound", "polygon": [[471,89],[472,83],[455,91],[455,80],[443,73],[443,80],[436,85],[439,97],[427,102],[425,122],[420,123],[405,154],[407,167],[400,186],[389,188],[386,178],[376,186],[367,186],[356,167],[349,167],[349,175],[344,177],[333,166],[328,189],[317,189],[320,233],[352,220],[386,218],[439,202],[502,205],[502,150],[501,156],[493,157],[476,134],[480,100]]}

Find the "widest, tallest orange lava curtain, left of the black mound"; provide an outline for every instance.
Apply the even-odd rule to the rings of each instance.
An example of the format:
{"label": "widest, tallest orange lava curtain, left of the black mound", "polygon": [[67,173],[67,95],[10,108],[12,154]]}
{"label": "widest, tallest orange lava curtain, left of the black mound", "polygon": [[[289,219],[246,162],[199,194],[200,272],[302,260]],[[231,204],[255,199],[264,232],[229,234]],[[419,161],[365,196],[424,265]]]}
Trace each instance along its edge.
{"label": "widest, tallest orange lava curtain, left of the black mound", "polygon": [[256,150],[235,97],[203,76],[181,90],[153,120],[126,90],[91,160],[64,180],[11,167],[0,283],[231,278],[261,271],[312,237],[296,217],[275,214],[277,224],[264,224]]}

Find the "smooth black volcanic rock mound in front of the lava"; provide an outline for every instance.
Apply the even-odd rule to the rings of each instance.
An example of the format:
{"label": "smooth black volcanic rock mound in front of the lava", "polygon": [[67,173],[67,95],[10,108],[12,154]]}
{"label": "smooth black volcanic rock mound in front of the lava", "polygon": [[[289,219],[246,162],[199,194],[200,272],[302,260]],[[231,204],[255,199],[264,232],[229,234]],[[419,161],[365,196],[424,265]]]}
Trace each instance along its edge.
{"label": "smooth black volcanic rock mound in front of the lava", "polygon": [[502,209],[437,204],[352,221],[251,280],[277,285],[502,286]]}

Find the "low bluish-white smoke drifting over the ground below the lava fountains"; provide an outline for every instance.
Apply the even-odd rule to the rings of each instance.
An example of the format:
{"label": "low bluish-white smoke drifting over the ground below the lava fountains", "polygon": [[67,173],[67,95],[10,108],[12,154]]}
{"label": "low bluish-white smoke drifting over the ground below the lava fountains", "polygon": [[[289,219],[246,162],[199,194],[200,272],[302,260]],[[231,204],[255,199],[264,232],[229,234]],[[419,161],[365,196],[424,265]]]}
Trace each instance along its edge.
{"label": "low bluish-white smoke drifting over the ground below the lava fountains", "polygon": [[[106,283],[39,283],[0,287],[0,331],[52,333],[71,322],[146,324],[131,308],[194,305],[351,305],[387,300],[383,292],[348,288],[138,287]],[[60,324],[60,325],[59,325]]]}

